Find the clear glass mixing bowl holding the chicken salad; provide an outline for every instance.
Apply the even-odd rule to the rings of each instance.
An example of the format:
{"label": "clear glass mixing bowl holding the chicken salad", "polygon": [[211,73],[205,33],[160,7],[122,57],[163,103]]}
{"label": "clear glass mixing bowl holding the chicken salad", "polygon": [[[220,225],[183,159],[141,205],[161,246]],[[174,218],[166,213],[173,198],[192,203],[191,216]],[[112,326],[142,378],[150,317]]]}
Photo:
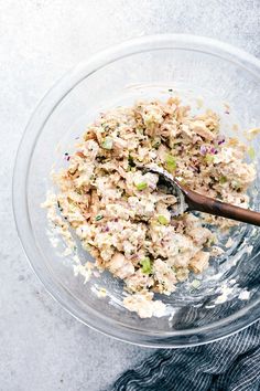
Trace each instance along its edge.
{"label": "clear glass mixing bowl holding the chicken salad", "polygon": [[[123,341],[148,347],[187,347],[227,337],[260,317],[259,231],[241,224],[232,246],[213,260],[201,287],[184,283],[170,297],[169,315],[140,319],[121,305],[122,284],[109,273],[74,276],[72,255],[61,256],[40,208],[52,188],[50,171],[62,167],[86,125],[102,110],[136,99],[178,94],[197,109],[210,107],[225,134],[249,141],[243,130],[260,125],[260,62],[210,39],[145,36],[97,54],[68,72],[42,99],[22,138],[13,177],[13,209],[20,239],[33,270],[50,294],[77,319]],[[201,108],[201,109],[203,109]],[[251,205],[259,210],[259,178]],[[227,239],[227,237],[226,237]],[[223,237],[223,241],[226,240]],[[82,262],[88,254],[79,254]],[[107,296],[98,297],[99,287]]]}

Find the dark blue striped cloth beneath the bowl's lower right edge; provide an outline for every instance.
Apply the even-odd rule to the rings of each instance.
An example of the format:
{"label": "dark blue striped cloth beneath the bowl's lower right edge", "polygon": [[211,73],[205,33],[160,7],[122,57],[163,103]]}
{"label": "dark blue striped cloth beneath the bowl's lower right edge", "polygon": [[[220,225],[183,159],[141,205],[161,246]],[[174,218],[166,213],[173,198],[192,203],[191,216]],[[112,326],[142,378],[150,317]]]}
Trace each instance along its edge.
{"label": "dark blue striped cloth beneath the bowl's lower right edge", "polygon": [[112,391],[260,391],[260,323],[217,342],[158,350]]}

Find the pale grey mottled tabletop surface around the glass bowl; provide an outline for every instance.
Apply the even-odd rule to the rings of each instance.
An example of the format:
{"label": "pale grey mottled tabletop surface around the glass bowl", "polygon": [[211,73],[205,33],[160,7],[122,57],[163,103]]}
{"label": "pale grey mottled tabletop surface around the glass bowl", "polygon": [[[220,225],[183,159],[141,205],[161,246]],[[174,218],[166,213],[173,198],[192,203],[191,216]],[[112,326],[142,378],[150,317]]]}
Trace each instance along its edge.
{"label": "pale grey mottled tabletop surface around the glass bowl", "polygon": [[165,32],[260,56],[260,1],[0,0],[0,390],[100,391],[151,353],[84,327],[48,296],[17,237],[11,172],[28,119],[58,77],[108,45]]}

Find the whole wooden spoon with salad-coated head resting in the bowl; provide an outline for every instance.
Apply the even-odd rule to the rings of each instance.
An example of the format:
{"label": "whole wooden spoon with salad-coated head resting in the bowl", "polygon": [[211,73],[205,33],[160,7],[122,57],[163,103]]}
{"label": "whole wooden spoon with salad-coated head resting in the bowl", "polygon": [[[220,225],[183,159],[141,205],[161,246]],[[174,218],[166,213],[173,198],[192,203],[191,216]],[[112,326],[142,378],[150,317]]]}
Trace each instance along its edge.
{"label": "whole wooden spoon with salad-coated head resting in the bowl", "polygon": [[259,212],[235,207],[189,190],[171,173],[158,166],[142,167],[142,170],[159,175],[158,186],[180,199],[177,214],[182,214],[185,211],[198,211],[260,226]]}

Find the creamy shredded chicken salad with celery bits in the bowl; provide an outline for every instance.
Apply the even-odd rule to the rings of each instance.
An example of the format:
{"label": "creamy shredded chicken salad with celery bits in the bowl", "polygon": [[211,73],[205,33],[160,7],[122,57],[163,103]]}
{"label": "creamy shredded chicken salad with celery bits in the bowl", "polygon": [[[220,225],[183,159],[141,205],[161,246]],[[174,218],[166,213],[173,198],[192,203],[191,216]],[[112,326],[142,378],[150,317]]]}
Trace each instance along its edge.
{"label": "creamy shredded chicken salad with celery bits in the bowl", "polygon": [[154,293],[171,295],[218,254],[212,229],[237,223],[174,215],[176,198],[140,166],[156,165],[202,194],[247,208],[256,177],[247,152],[220,134],[215,113],[192,115],[177,97],[118,107],[88,126],[72,156],[65,154],[67,168],[53,176],[58,190],[44,207],[68,240],[68,228],[75,231],[99,270],[124,282],[124,306],[151,317],[164,309]]}

